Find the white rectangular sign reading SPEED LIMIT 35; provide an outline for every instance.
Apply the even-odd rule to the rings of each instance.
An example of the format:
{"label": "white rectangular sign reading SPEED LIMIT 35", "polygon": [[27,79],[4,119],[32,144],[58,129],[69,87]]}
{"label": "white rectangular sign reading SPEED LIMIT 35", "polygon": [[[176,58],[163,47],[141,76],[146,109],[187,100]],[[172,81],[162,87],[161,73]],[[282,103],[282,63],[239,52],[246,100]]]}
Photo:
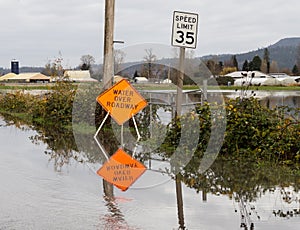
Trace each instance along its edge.
{"label": "white rectangular sign reading SPEED LIMIT 35", "polygon": [[198,14],[174,11],[172,46],[195,49],[197,32]]}

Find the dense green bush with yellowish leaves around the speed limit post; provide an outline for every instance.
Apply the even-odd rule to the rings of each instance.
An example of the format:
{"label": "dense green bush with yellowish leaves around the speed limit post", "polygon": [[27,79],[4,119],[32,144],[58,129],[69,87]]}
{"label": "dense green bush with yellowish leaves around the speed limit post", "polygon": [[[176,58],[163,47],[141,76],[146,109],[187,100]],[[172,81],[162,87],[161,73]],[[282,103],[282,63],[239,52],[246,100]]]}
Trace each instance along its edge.
{"label": "dense green bush with yellowish leaves around the speed limit post", "polygon": [[[211,110],[208,105],[196,109],[200,132],[198,148],[193,162],[200,163],[211,137]],[[254,161],[267,160],[294,164],[300,160],[300,124],[296,116],[289,116],[287,108],[268,109],[255,98],[237,98],[226,101],[226,131],[220,155],[251,158]],[[289,108],[289,110],[291,110]],[[292,114],[299,112],[293,109]],[[289,111],[291,113],[291,111]],[[219,116],[215,116],[216,119]],[[181,118],[186,124],[195,119],[193,112]],[[220,117],[222,119],[222,117]],[[196,127],[185,127],[195,129]],[[161,151],[165,156],[172,155],[181,138],[180,119],[169,125],[169,132]],[[220,134],[221,135],[221,134]],[[213,137],[216,138],[216,137]],[[221,137],[217,137],[221,140]]]}

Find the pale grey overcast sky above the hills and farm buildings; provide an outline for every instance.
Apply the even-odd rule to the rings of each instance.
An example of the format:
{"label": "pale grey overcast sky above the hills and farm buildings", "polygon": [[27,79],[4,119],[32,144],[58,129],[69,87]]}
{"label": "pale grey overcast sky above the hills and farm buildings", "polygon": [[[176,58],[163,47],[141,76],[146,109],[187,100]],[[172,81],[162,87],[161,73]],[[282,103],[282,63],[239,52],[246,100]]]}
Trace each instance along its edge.
{"label": "pale grey overcast sky above the hills and farm buildings", "polygon": [[[171,46],[173,11],[199,14],[197,56],[241,53],[300,36],[299,0],[115,0],[116,48]],[[66,67],[90,54],[100,63],[105,0],[0,0],[0,67],[44,66],[61,52]]]}

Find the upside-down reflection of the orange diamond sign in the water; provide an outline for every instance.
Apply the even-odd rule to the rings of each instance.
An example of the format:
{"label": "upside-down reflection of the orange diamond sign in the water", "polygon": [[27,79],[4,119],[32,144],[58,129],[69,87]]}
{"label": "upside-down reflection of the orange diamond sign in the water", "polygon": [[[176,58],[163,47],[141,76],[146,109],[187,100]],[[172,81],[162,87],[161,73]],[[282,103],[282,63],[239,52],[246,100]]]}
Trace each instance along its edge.
{"label": "upside-down reflection of the orange diamond sign in the water", "polygon": [[97,174],[122,191],[126,191],[145,170],[146,167],[142,163],[133,159],[120,148],[97,171]]}

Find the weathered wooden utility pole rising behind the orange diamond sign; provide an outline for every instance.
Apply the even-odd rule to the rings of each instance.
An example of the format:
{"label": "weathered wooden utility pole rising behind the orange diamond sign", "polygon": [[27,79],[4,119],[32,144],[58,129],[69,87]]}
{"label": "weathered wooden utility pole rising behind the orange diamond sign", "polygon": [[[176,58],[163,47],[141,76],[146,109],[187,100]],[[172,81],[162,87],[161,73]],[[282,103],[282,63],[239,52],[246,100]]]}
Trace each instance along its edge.
{"label": "weathered wooden utility pole rising behind the orange diamond sign", "polygon": [[112,86],[114,77],[114,18],[115,0],[105,0],[103,87]]}

